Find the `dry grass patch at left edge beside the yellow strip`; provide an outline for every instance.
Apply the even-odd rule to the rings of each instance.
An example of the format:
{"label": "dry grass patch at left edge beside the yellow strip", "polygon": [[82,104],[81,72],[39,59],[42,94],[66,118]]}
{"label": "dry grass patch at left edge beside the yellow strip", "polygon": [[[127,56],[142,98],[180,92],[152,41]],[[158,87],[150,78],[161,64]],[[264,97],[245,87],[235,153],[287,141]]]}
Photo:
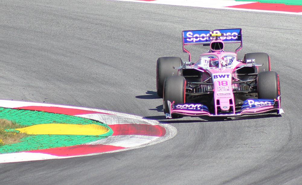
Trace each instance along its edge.
{"label": "dry grass patch at left edge beside the yellow strip", "polygon": [[22,127],[24,126],[21,126],[9,120],[0,119],[0,147],[3,145],[18,143],[22,138],[28,136],[28,134],[26,133],[5,131],[6,129],[17,129]]}

